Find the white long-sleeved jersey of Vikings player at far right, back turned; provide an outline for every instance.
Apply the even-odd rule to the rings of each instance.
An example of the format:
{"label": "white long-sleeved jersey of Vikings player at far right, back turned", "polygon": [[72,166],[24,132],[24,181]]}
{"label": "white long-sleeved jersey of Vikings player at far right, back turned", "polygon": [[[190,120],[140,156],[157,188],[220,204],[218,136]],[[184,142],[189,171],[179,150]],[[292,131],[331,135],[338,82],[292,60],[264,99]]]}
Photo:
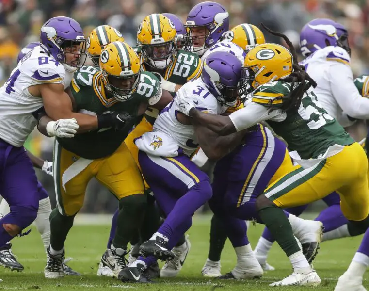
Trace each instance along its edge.
{"label": "white long-sleeved jersey of Vikings player at far right, back turned", "polygon": [[[333,46],[319,49],[303,60],[300,65],[305,65],[306,72],[317,83],[314,93],[318,102],[343,127],[353,124],[353,121],[343,118],[345,115],[343,112],[349,115],[360,114],[366,117],[365,115],[368,114],[369,116],[369,101],[361,98],[353,83],[350,56],[346,50]],[[360,103],[367,101],[368,104],[358,106],[359,103],[355,101],[358,98],[362,99],[359,100]]]}

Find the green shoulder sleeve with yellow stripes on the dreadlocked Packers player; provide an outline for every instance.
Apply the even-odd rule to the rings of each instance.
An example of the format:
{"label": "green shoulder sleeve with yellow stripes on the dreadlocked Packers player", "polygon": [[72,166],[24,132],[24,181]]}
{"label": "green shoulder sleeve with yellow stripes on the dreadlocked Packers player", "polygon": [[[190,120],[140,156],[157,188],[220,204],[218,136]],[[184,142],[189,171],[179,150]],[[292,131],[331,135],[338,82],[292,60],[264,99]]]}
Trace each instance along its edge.
{"label": "green shoulder sleeve with yellow stripes on the dreadlocked Packers player", "polygon": [[283,97],[288,95],[290,89],[289,83],[274,81],[259,86],[252,96],[252,102],[264,106],[278,107],[283,103]]}

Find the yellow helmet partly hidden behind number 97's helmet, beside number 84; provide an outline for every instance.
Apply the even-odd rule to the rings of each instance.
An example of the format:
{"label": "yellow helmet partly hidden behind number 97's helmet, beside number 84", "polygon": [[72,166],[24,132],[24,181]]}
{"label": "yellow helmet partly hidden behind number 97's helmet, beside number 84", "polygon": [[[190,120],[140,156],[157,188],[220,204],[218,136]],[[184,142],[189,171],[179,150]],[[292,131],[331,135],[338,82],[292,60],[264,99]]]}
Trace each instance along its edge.
{"label": "yellow helmet partly hidden behind number 97's helmet, beside number 84", "polygon": [[109,25],[97,26],[87,38],[88,55],[95,66],[99,66],[102,49],[113,41],[124,41],[122,33]]}

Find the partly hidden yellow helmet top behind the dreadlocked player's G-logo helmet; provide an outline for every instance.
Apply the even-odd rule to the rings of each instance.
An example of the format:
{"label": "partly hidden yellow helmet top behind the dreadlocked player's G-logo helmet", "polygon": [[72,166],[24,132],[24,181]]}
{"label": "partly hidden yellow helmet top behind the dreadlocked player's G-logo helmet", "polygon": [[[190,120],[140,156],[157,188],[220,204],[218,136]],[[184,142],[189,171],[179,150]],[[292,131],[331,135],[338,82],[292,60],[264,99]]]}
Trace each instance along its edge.
{"label": "partly hidden yellow helmet top behind the dreadlocked player's G-logo helmet", "polygon": [[243,23],[226,33],[225,39],[240,46],[246,53],[257,45],[265,44],[263,32],[255,25]]}

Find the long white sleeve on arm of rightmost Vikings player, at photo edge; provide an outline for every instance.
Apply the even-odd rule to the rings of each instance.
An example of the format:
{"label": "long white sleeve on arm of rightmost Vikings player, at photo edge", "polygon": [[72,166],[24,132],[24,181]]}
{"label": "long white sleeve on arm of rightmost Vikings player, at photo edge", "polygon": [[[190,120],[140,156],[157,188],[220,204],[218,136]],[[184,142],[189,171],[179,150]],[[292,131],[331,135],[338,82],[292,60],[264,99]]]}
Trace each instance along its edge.
{"label": "long white sleeve on arm of rightmost Vikings player, at photo edge", "polygon": [[333,96],[342,111],[353,118],[369,119],[369,99],[363,98],[357,90],[351,68],[337,62],[330,66],[329,76]]}

